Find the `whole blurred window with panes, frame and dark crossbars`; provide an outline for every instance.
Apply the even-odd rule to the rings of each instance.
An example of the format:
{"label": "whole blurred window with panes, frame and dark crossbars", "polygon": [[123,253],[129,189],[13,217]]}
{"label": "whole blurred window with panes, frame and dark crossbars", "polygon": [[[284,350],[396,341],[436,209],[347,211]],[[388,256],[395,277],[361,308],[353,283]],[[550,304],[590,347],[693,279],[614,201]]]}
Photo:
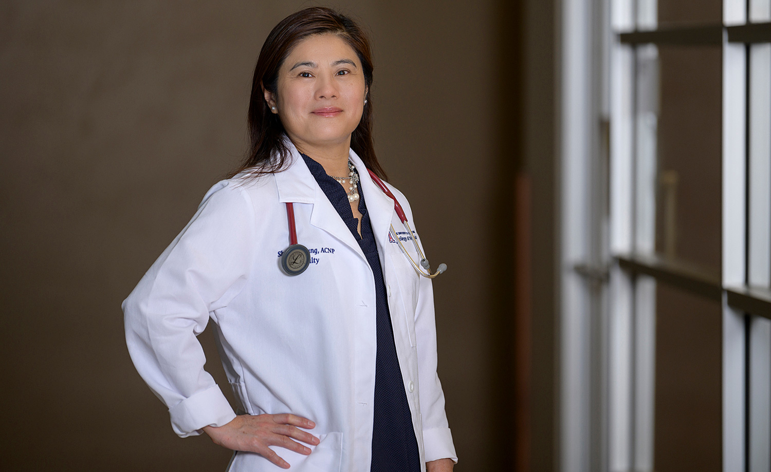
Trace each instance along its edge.
{"label": "whole blurred window with panes, frame and dark crossbars", "polygon": [[562,14],[561,469],[767,472],[771,0]]}

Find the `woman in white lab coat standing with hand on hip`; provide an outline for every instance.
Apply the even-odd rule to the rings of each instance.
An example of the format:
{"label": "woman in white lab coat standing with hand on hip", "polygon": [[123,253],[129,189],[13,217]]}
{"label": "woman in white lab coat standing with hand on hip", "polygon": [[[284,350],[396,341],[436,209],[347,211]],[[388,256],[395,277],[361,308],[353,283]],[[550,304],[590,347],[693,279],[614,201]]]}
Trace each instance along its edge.
{"label": "woman in white lab coat standing with hand on hip", "polygon": [[[247,159],[123,303],[133,362],[174,430],[237,451],[229,470],[456,461],[431,281],[399,248],[419,260],[419,236],[402,233],[368,171],[383,176],[371,85],[369,42],[349,18],[314,7],[279,23],[254,71]],[[281,257],[293,222],[308,256],[294,268]],[[204,370],[208,320],[242,414]]]}

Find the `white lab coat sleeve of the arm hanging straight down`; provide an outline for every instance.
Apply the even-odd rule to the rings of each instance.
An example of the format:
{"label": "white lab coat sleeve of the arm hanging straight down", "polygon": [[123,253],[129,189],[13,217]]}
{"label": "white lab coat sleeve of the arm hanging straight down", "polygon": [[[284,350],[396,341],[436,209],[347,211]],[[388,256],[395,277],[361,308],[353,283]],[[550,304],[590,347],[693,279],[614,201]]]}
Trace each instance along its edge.
{"label": "white lab coat sleeve of the arm hanging straight down", "polygon": [[[400,202],[407,200],[399,195]],[[409,203],[405,206],[407,218],[412,218]],[[416,228],[412,228],[417,230]],[[423,243],[419,240],[421,249]],[[424,253],[425,253],[425,249]],[[428,255],[426,255],[427,257]],[[418,350],[418,385],[420,415],[423,423],[423,448],[426,462],[452,459],[458,462],[444,410],[444,393],[436,373],[436,321],[434,317],[433,286],[428,277],[419,277],[418,304],[415,311],[415,333]]]}

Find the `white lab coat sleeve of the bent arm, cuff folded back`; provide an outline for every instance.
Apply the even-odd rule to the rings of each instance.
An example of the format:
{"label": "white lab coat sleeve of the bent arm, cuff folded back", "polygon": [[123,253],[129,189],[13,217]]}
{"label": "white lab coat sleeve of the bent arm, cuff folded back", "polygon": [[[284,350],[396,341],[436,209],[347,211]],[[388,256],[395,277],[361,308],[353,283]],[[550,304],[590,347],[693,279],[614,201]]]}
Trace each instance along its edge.
{"label": "white lab coat sleeve of the bent arm, cuff folded back", "polygon": [[246,283],[254,225],[247,192],[218,183],[123,302],[131,359],[180,437],[235,417],[196,336]]}

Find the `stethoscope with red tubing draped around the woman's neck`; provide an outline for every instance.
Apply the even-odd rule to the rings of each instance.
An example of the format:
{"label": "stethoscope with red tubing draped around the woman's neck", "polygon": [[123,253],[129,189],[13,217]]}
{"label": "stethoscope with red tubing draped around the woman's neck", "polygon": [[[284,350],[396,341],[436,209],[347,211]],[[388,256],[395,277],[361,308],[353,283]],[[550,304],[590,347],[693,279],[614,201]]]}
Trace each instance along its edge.
{"label": "stethoscope with red tubing draped around the woman's neck", "polygon": [[[429,279],[433,279],[440,273],[443,273],[447,269],[446,264],[439,264],[439,267],[436,268],[436,272],[431,273],[431,266],[429,265],[429,261],[426,259],[426,256],[423,255],[423,251],[418,245],[416,240],[416,233],[412,231],[412,228],[409,227],[409,223],[407,223],[407,216],[405,215],[402,206],[399,205],[399,200],[397,200],[396,196],[394,196],[388,187],[385,186],[385,183],[383,183],[383,181],[378,176],[375,176],[374,172],[369,169],[367,169],[367,172],[369,172],[369,176],[372,177],[372,180],[377,184],[377,186],[380,187],[383,193],[385,193],[386,196],[389,196],[393,200],[393,209],[396,210],[396,215],[398,215],[399,219],[402,220],[402,224],[407,229],[409,239],[412,240],[412,244],[415,246],[415,249],[420,256],[419,263],[416,263],[415,259],[412,259],[412,256],[409,255],[407,249],[405,249],[404,245],[402,244],[402,238],[396,234],[396,229],[393,229],[393,225],[391,225],[391,234],[393,238],[396,239],[396,243],[399,244],[399,249],[402,249],[402,253],[404,253],[404,255],[407,256],[407,259],[409,259],[409,263],[412,264],[412,268],[415,269],[415,271],[420,275],[428,277]],[[289,247],[284,249],[284,252],[281,253],[281,269],[284,269],[284,273],[287,273],[287,275],[296,276],[305,272],[305,269],[308,269],[308,265],[311,263],[311,253],[308,252],[307,247],[297,243],[295,207],[292,203],[286,203],[286,206],[287,220],[289,225]]]}

